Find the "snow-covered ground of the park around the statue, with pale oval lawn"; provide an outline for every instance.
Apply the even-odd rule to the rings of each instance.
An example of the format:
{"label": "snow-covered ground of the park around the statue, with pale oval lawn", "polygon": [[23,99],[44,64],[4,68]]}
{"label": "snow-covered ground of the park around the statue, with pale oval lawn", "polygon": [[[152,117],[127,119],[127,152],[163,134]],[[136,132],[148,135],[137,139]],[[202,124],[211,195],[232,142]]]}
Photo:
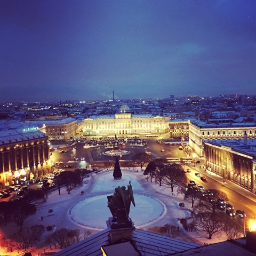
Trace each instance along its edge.
{"label": "snow-covered ground of the park around the statue, with pale oval lawn", "polygon": [[[129,181],[134,191],[136,207],[131,205],[130,217],[135,223],[136,228],[148,229],[153,226],[163,226],[170,223],[179,226],[182,236],[178,237],[190,242],[204,244],[217,243],[225,241],[226,235],[222,233],[215,234],[213,239],[207,239],[207,234],[199,231],[187,232],[183,229],[179,219],[189,217],[191,202],[185,201],[179,189],[175,188],[171,193],[170,188],[159,187],[155,182],[146,180],[145,175],[140,169],[126,170],[122,169],[122,181],[114,181],[113,171],[102,171],[99,174],[92,174],[90,178],[84,180],[84,184],[71,191],[68,195],[65,188],[61,189],[61,195],[58,190],[52,191],[48,196],[47,202],[37,206],[35,215],[29,217],[24,226],[51,225],[55,229],[71,228],[81,230],[83,236],[86,230],[92,234],[99,230],[107,228],[106,221],[111,217],[107,207],[107,195],[112,195],[117,186],[127,186]],[[81,191],[84,195],[81,195]],[[179,203],[184,203],[185,208],[180,209]],[[49,209],[53,213],[49,213]],[[187,210],[188,209],[188,210]],[[43,217],[43,220],[41,220]],[[9,237],[17,231],[13,223],[2,227],[5,237]],[[45,232],[44,237],[47,235]],[[40,248],[33,252],[49,251],[49,246],[40,245]],[[1,250],[4,250],[1,248]],[[4,251],[0,250],[0,254]],[[17,255],[12,253],[12,255]]]}

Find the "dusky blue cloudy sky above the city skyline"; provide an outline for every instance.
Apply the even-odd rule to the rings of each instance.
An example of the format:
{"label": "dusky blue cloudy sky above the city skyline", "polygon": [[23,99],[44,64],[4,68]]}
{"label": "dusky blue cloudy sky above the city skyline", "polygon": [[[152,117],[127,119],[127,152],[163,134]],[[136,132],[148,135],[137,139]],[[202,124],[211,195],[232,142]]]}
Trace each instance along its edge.
{"label": "dusky blue cloudy sky above the city skyline", "polygon": [[1,0],[0,101],[256,94],[254,0]]}

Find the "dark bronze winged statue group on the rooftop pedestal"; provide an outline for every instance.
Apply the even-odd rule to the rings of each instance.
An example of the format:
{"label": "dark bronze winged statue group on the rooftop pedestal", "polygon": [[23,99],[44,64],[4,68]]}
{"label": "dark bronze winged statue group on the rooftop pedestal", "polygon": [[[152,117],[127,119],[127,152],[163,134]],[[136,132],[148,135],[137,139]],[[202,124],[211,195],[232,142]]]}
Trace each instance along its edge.
{"label": "dark bronze winged statue group on the rooftop pedestal", "polygon": [[113,215],[111,223],[117,223],[118,227],[119,225],[127,225],[131,221],[129,218],[131,202],[135,207],[131,181],[127,186],[127,190],[125,186],[118,186],[115,188],[115,193],[107,198],[109,210]]}

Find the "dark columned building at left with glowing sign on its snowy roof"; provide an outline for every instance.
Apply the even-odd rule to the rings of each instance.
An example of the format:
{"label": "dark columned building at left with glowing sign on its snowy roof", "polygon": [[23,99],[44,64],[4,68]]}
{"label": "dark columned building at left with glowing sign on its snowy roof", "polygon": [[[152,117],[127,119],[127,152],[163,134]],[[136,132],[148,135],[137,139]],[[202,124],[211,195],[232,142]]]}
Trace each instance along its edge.
{"label": "dark columned building at left with glowing sign on its snowy roof", "polygon": [[0,189],[45,175],[53,170],[48,137],[38,127],[2,130]]}

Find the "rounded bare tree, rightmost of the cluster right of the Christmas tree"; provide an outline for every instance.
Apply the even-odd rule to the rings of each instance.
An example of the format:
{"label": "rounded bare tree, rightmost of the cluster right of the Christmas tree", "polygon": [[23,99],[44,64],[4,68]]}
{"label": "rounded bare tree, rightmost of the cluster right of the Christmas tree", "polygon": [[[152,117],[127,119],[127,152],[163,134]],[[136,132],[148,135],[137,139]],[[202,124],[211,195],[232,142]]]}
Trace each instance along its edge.
{"label": "rounded bare tree, rightmost of the cluster right of the Christmas tree", "polygon": [[165,165],[165,175],[162,180],[164,187],[171,188],[173,192],[173,188],[185,182],[187,182],[187,177],[181,165]]}

